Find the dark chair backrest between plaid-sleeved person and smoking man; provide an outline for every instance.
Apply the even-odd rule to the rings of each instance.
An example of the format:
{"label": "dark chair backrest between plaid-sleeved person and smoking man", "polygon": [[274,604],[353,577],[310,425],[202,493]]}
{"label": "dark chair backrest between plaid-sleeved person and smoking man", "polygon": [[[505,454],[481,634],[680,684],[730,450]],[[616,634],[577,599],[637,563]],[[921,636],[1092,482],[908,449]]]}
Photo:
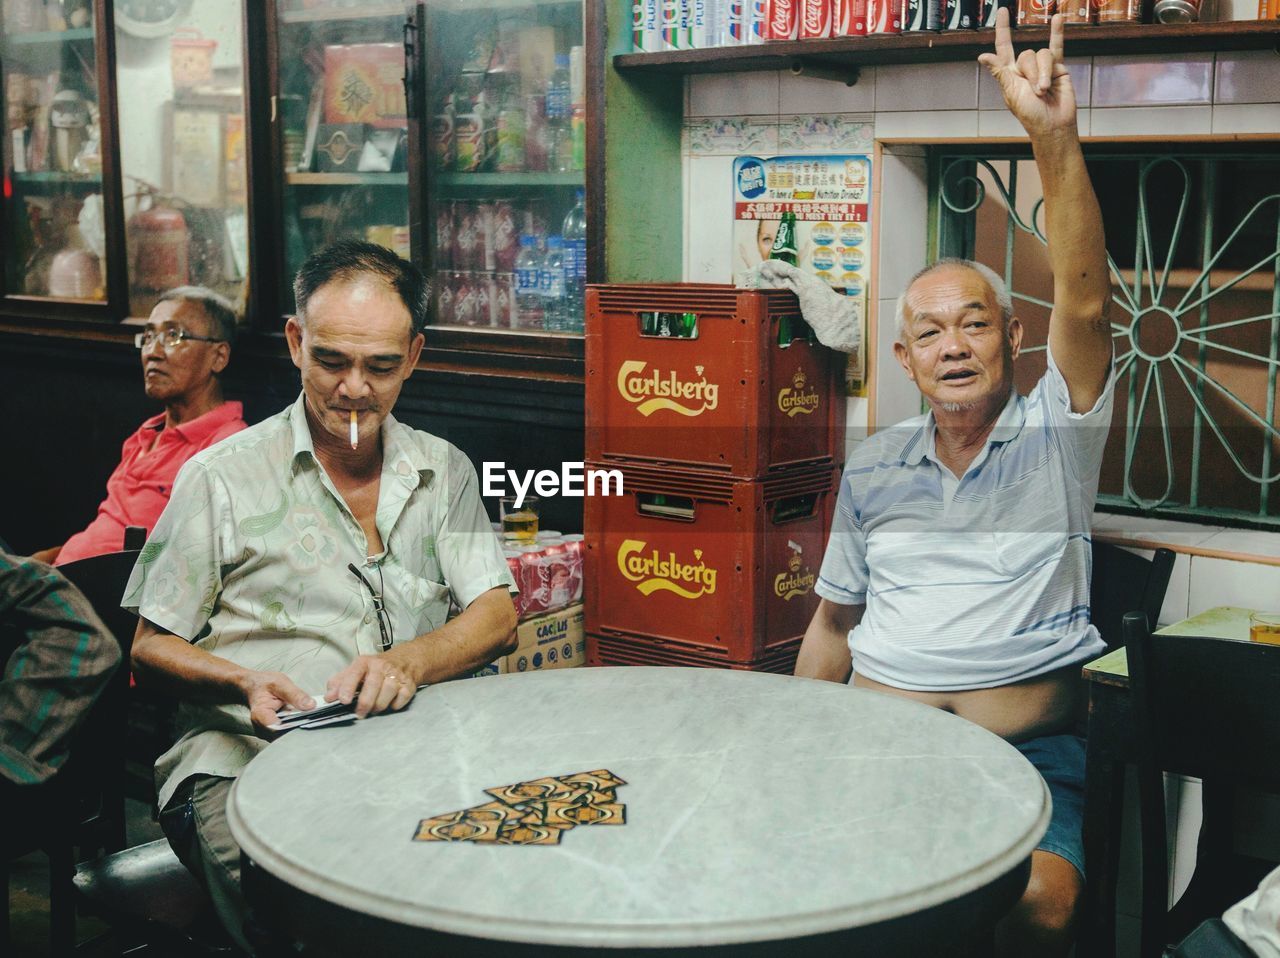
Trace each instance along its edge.
{"label": "dark chair backrest between plaid-sleeved person and smoking man", "polygon": [[110,850],[124,847],[124,761],[128,722],[129,652],[138,619],[120,608],[120,598],[138,549],[111,552],[59,566],[93,606],[102,624],[120,645],[120,667],[99,695],[93,712],[72,743],[68,774],[84,802],[86,838],[83,844]]}

